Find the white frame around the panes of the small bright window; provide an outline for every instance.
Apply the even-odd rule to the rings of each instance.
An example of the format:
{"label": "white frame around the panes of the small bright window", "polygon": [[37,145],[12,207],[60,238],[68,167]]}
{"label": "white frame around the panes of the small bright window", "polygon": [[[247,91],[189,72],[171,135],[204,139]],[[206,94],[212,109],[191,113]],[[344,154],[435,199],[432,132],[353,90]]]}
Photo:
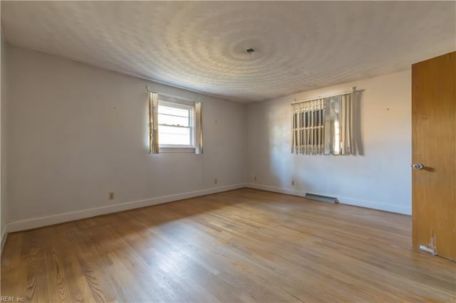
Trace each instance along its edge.
{"label": "white frame around the panes of the small bright window", "polygon": [[[177,144],[160,144],[160,153],[193,153],[195,154],[195,103],[185,102],[181,100],[173,100],[167,97],[158,97],[158,107],[165,105],[167,107],[174,107],[181,110],[189,110],[189,127],[190,128],[190,143],[189,145],[177,145]],[[158,132],[160,134],[160,126],[177,127],[176,125],[160,124],[158,120]],[[187,127],[186,127],[187,128]],[[160,135],[159,135],[160,138]],[[160,141],[159,141],[160,142]]]}

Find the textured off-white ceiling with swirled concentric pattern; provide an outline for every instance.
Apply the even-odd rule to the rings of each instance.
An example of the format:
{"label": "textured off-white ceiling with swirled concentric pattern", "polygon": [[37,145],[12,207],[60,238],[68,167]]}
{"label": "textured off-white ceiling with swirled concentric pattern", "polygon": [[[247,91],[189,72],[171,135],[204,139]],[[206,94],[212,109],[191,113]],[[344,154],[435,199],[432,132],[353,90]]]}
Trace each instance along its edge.
{"label": "textured off-white ceiling with swirled concentric pattern", "polygon": [[1,24],[16,46],[237,102],[456,49],[455,1],[1,1]]}

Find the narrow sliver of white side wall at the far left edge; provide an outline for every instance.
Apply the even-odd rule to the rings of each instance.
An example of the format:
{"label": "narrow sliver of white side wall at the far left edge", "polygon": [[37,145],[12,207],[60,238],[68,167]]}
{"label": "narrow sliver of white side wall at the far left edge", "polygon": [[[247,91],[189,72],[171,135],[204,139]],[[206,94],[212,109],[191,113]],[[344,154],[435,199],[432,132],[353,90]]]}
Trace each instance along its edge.
{"label": "narrow sliver of white side wall at the far left edge", "polygon": [[3,249],[6,240],[6,41],[1,28],[0,33],[0,247]]}

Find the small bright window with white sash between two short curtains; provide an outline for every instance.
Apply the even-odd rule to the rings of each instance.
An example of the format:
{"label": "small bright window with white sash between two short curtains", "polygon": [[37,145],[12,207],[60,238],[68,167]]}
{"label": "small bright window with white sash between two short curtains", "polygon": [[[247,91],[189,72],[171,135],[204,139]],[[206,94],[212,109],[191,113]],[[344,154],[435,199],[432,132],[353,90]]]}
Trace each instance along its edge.
{"label": "small bright window with white sash between two short curtains", "polygon": [[158,101],[158,137],[161,151],[195,152],[194,106]]}

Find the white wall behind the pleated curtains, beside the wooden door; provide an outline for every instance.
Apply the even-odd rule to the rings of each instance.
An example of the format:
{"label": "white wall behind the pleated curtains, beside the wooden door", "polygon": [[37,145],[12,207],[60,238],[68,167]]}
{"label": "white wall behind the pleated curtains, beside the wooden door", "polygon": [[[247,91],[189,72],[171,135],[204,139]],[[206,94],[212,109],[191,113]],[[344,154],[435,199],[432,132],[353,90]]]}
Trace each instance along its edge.
{"label": "white wall behind the pleated curtains, beside the wooden door", "polygon": [[[363,155],[291,154],[293,99],[336,94],[352,86],[364,90]],[[296,195],[320,193],[341,203],[410,214],[410,91],[411,73],[406,70],[249,105],[249,186]]]}

